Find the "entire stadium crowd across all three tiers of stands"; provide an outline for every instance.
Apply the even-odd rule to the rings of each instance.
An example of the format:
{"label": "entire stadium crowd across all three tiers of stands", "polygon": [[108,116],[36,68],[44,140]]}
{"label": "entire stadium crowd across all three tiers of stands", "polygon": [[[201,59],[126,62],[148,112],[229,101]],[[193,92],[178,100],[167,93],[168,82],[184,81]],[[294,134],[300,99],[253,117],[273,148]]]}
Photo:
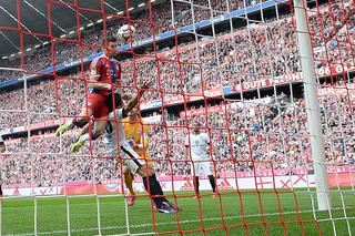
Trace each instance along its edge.
{"label": "entire stadium crowd across all three tiers of stands", "polygon": [[[197,6],[206,7],[209,2],[207,0],[194,1]],[[214,12],[214,16],[226,11],[226,1],[211,2],[215,10],[221,11]],[[244,4],[254,3],[255,1],[236,3],[231,1],[229,8],[235,10],[243,8]],[[318,49],[315,50],[318,66],[326,63],[353,62],[355,53],[351,42],[355,38],[354,19],[344,21],[342,17],[354,9],[353,4],[345,3],[343,6],[335,2],[331,11],[326,11],[328,6],[322,7],[317,14],[311,16],[313,43]],[[190,3],[176,3],[174,12],[180,13],[174,18],[175,22],[172,22],[169,17],[171,6],[154,7],[154,20],[165,28],[159,29],[158,33],[168,28],[191,24],[190,8]],[[197,7],[194,6],[194,8]],[[194,10],[196,10],[195,22],[211,18],[211,11],[205,8]],[[144,18],[145,20],[149,18],[148,11],[136,12],[133,16],[136,20],[144,20]],[[118,20],[112,24],[121,25],[122,21]],[[139,25],[135,40],[146,38],[150,35],[149,31],[150,27]],[[85,48],[83,54],[89,55],[101,51],[101,31],[83,33],[83,42],[97,45],[94,49]],[[68,60],[79,58],[78,45],[55,42],[57,64],[68,63]],[[251,25],[234,34],[220,35],[217,40],[186,45],[180,49],[179,58],[178,63],[176,53],[172,50],[161,52],[159,61],[148,57],[135,61],[138,84],[149,78],[156,85],[153,91],[144,94],[143,102],[165,99],[181,94],[183,91],[194,93],[225,84],[252,82],[300,71],[296,35],[291,18]],[[40,63],[33,63],[34,61]],[[19,60],[9,61],[8,64],[3,64],[2,60],[1,63],[11,68],[20,64]],[[39,71],[50,66],[52,62],[47,49],[26,58],[24,63],[28,71]],[[88,71],[84,72],[85,76],[87,73]],[[0,72],[1,81],[16,76],[19,76],[18,72]],[[84,94],[82,79],[82,74],[77,73],[55,82],[44,80],[42,84],[27,90],[1,92],[0,110],[3,111],[0,113],[1,129],[78,114],[84,103],[84,98],[78,95]],[[130,60],[123,62],[122,84],[124,91],[134,92],[133,62]],[[321,104],[328,164],[355,164],[355,98],[349,94],[326,94],[321,96]],[[211,138],[222,154],[222,160],[215,160],[217,173],[247,172],[254,168],[292,172],[294,168],[312,166],[303,99],[288,100],[285,94],[282,94],[266,98],[263,102],[255,99],[231,103],[226,114],[224,110],[224,112],[209,113],[207,117],[200,119],[211,129]],[[191,173],[190,163],[184,160],[182,152],[183,140],[189,132],[186,121],[184,117],[179,117],[151,127],[150,152],[155,160],[154,168],[160,175]],[[102,140],[91,147],[97,158],[88,155],[88,147],[83,148],[78,156],[71,155],[69,146],[72,142],[73,137],[69,135],[60,145],[59,138],[50,132],[42,132],[30,141],[24,137],[8,140],[8,153],[1,158],[3,184],[33,183],[36,186],[47,186],[63,181],[77,182],[93,178],[103,181],[116,177],[114,162],[111,158],[100,157],[101,151],[104,150]]]}

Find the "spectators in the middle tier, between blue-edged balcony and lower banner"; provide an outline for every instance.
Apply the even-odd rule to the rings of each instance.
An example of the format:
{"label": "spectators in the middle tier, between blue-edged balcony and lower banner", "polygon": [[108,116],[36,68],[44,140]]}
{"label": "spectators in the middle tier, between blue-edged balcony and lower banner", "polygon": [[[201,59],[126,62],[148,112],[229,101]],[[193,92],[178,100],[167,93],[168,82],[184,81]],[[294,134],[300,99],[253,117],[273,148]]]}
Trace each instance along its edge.
{"label": "spectators in the middle tier, between blue-edged balcony and lower banner", "polygon": [[[342,16],[342,11],[339,10],[341,8],[337,7],[336,3],[333,4],[333,12],[338,12],[334,13],[335,16]],[[347,8],[349,7],[347,6],[346,9]],[[324,14],[325,23],[322,28],[332,29],[327,21],[333,18],[329,18],[326,13]],[[312,22],[318,21],[315,18]],[[313,30],[314,32],[321,30],[318,24],[312,25],[315,25],[315,29]],[[348,40],[348,35],[355,35],[354,21],[349,21],[345,28],[347,30],[342,28],[337,34],[334,34],[336,35],[334,38],[342,39],[342,41],[339,41],[341,43],[335,47],[341,45],[339,49],[343,51],[339,51],[337,48],[333,48],[327,51],[327,57],[329,58],[328,62],[332,64],[335,64],[335,59],[343,62],[344,65],[353,61],[354,53],[352,48],[354,47],[349,43],[351,40]],[[93,38],[91,38],[90,34],[83,37],[83,40],[88,38],[87,42],[92,44],[100,39],[100,34],[101,32],[95,32],[92,35]],[[248,42],[248,39],[251,39],[252,42]],[[322,38],[315,37],[315,39]],[[329,45],[333,43],[334,40],[328,41]],[[268,49],[266,50],[263,47],[265,44],[268,45]],[[253,49],[246,45],[253,45]],[[60,50],[57,50],[55,52],[60,52],[62,55],[55,55],[55,60],[75,58],[72,53],[67,54],[64,44],[60,44],[60,47],[62,48],[59,48]],[[99,50],[100,49],[97,49],[97,51]],[[79,53],[80,50],[77,49],[73,51]],[[341,52],[342,54],[339,54]],[[29,66],[27,68],[32,70],[31,68],[38,65],[38,63],[30,63],[32,61],[45,61],[42,55],[43,54],[41,53],[36,54],[36,57],[39,58],[36,58],[34,60],[29,58],[27,62]],[[320,66],[327,65],[328,62],[325,60],[325,55],[326,54],[322,50],[320,54],[316,55],[318,58]],[[329,55],[334,55],[334,58]],[[166,99],[170,96],[168,93],[173,95],[181,94],[183,91],[193,93],[199,92],[202,89],[213,89],[221,84],[240,84],[243,82],[270,79],[290,74],[300,70],[296,37],[293,32],[291,19],[288,18],[280,21],[273,21],[265,25],[244,29],[232,35],[223,35],[220,37],[217,41],[210,40],[200,44],[195,43],[181,48],[179,57],[180,63],[176,62],[176,53],[172,50],[161,53],[161,60],[159,62],[154,58],[142,58],[135,60],[134,63],[139,71],[139,73],[136,73],[138,82],[149,78],[154,81],[154,84],[156,84],[156,88],[154,88],[156,91],[146,93],[144,98],[145,100],[161,100],[162,95]],[[50,62],[48,65],[49,64]],[[159,76],[158,66],[160,70]],[[203,73],[201,74],[202,70]],[[87,71],[84,73],[87,73]],[[74,79],[82,79],[81,73],[71,76]],[[9,121],[4,122],[4,127],[12,127],[24,124],[26,122],[33,123],[55,119],[55,115],[52,114],[55,111],[61,115],[73,115],[80,107],[80,104],[83,103],[82,99],[79,102],[78,99],[73,99],[75,93],[83,92],[84,85],[80,82],[80,80],[70,80],[57,88],[54,82],[49,82],[47,88],[44,85],[29,88],[28,96],[36,98],[28,100],[28,111],[33,113],[30,115],[29,122],[28,117],[26,117],[26,113],[21,111],[12,112],[12,114],[2,113],[0,114],[0,120]],[[126,61],[123,64],[122,83],[124,86],[131,86],[131,84],[134,84],[132,61]],[[48,89],[48,86],[51,89]],[[58,100],[55,100],[55,90],[58,91]],[[164,93],[162,94],[160,91],[163,91]],[[0,96],[0,107],[2,110],[8,107],[9,100],[17,101],[17,103],[11,106],[13,110],[24,110],[23,90],[2,93]],[[55,104],[55,101],[59,101],[58,104]],[[68,103],[70,104],[69,106]],[[45,115],[38,116],[36,115],[37,113],[45,113]],[[17,119],[10,119],[13,115]]]}

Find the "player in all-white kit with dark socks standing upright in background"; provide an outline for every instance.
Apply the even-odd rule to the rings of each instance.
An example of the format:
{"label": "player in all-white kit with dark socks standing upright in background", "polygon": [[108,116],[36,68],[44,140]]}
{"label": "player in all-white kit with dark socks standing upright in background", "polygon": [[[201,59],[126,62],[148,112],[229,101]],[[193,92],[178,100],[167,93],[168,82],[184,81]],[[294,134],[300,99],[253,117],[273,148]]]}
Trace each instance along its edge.
{"label": "player in all-white kit with dark socks standing upright in background", "polygon": [[185,138],[185,160],[192,161],[191,170],[193,174],[195,194],[196,196],[200,195],[199,177],[202,175],[206,175],[209,176],[212,186],[212,196],[213,198],[215,198],[215,177],[213,175],[213,163],[209,153],[210,145],[216,156],[221,157],[221,154],[211,143],[209,135],[201,132],[201,123],[195,122],[193,126],[193,132],[191,132]]}

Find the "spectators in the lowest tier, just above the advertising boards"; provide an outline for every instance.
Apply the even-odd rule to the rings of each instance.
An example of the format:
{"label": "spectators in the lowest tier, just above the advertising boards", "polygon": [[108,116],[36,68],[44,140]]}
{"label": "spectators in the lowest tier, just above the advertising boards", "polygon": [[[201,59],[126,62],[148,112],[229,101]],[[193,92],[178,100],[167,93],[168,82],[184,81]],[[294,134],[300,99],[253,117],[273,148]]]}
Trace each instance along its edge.
{"label": "spectators in the lowest tier, just above the advertising boards", "polygon": [[[223,107],[223,105],[222,105]],[[321,96],[326,160],[329,166],[355,164],[355,98],[346,94]],[[192,107],[192,112],[196,109]],[[179,117],[156,123],[150,129],[150,153],[159,175],[189,175],[190,161],[183,154],[187,124],[199,120],[222,155],[214,157],[216,173],[312,167],[305,101],[290,102],[285,94],[275,98],[230,103],[223,112]],[[226,111],[226,112],[225,112]],[[338,115],[342,114],[342,115]],[[189,121],[189,122],[187,122]],[[207,122],[207,123],[206,123]],[[207,124],[207,125],[206,125]],[[190,127],[191,129],[191,127]],[[210,130],[210,132],[209,132]],[[8,142],[3,156],[4,184],[34,183],[37,186],[65,182],[114,179],[114,161],[105,156],[104,143],[92,144],[71,155],[73,135],[62,143],[47,132]],[[28,152],[29,151],[29,152]],[[31,153],[31,154],[29,154]],[[20,176],[20,177],[19,177]]]}

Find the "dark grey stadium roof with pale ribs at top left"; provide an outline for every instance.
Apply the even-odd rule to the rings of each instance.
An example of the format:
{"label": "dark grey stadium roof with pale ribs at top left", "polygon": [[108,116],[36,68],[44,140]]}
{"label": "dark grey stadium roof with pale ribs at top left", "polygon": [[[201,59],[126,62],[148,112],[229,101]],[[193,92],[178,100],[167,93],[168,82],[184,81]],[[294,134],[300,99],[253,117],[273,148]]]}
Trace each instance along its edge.
{"label": "dark grey stadium roof with pale ribs at top left", "polygon": [[[20,6],[17,6],[17,0],[0,0],[0,27],[18,28],[18,9],[20,9],[23,31],[49,34],[49,24],[51,25],[52,35],[58,38],[69,34],[71,31],[77,31],[74,0],[57,0],[51,3],[50,8],[47,4],[47,0],[21,0],[19,1]],[[64,6],[65,2],[72,6]],[[125,11],[125,0],[104,0],[102,2],[106,13],[118,14],[120,11]],[[142,0],[129,0],[129,2],[130,8],[136,8],[138,4],[142,3]],[[144,2],[146,3],[148,0]],[[78,6],[101,11],[100,0],[78,0]],[[49,9],[50,13],[48,13]],[[88,28],[88,25],[98,23],[98,20],[99,23],[102,23],[100,19],[102,19],[102,14],[99,12],[80,10],[81,27]],[[24,49],[40,45],[48,40],[49,38],[40,35],[24,35]],[[1,29],[0,43],[0,55],[18,53],[20,51],[20,33]]]}

